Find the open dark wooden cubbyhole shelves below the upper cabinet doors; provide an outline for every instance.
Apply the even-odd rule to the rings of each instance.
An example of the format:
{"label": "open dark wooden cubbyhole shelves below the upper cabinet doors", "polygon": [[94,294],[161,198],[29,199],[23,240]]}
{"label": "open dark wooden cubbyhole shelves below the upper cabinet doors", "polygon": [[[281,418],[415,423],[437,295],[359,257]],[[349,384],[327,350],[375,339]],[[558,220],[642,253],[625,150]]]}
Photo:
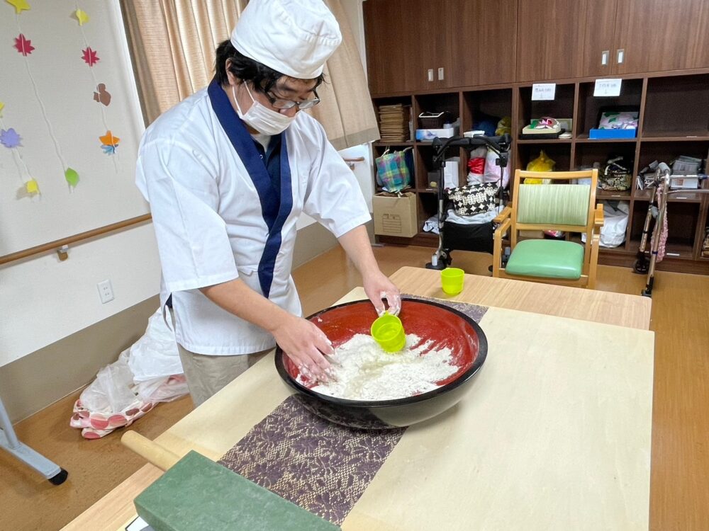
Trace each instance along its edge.
{"label": "open dark wooden cubbyhole shelves below the upper cabinet doors", "polygon": [[[559,81],[554,101],[531,101],[531,83],[489,87],[462,87],[456,91],[411,93],[406,96],[375,96],[374,105],[397,101],[411,105],[415,122],[424,110],[447,110],[452,120],[460,119],[461,130],[470,130],[481,115],[512,118],[513,147],[510,171],[524,168],[543,149],[556,161],[557,171],[579,169],[594,162],[604,164],[612,154],[632,161],[632,173],[654,160],[671,162],[681,154],[706,159],[709,156],[709,71],[686,74],[652,74],[623,79],[618,98],[594,98],[593,80]],[[632,139],[590,139],[588,131],[596,125],[603,108],[635,106],[640,110],[640,128]],[[550,115],[574,120],[570,139],[520,139],[519,135],[532,118]],[[686,128],[683,128],[683,125]],[[418,128],[415,123],[414,129]],[[418,222],[436,214],[436,190],[430,186],[433,166],[431,142],[374,142],[374,155],[387,148],[413,149],[413,191],[418,196]],[[459,153],[459,184],[467,176],[468,154]],[[431,175],[430,175],[431,174]],[[706,184],[705,184],[706,185]],[[622,200],[630,207],[625,243],[614,249],[601,249],[599,261],[608,265],[630,266],[640,245],[640,233],[647,213],[649,190],[638,190],[635,179],[630,190],[598,190],[598,200]],[[701,256],[704,228],[708,226],[709,198],[686,190],[670,199],[670,226],[667,255],[660,269],[709,274],[709,258]],[[435,245],[435,235],[420,232],[411,239],[379,236],[385,243]]]}

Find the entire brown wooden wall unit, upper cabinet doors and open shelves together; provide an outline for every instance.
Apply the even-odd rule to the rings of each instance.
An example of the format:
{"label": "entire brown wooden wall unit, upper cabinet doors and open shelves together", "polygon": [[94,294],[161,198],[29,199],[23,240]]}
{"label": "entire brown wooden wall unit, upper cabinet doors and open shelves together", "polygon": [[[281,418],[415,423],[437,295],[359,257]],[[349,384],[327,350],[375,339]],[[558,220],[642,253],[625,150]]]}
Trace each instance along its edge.
{"label": "entire brown wooden wall unit, upper cabinet doors and open shelves together", "polygon": [[[412,116],[448,110],[471,129],[480,115],[510,116],[510,169],[524,168],[540,149],[557,170],[605,164],[611,154],[632,161],[632,173],[654,160],[681,154],[709,155],[709,10],[706,0],[368,0],[363,4],[367,72],[374,105],[406,103]],[[405,24],[392,24],[403,19]],[[552,33],[540,28],[554,28]],[[649,29],[650,28],[650,29]],[[624,50],[620,57],[620,50]],[[604,59],[605,57],[605,59]],[[595,98],[598,78],[620,78],[620,96]],[[532,84],[555,83],[553,101],[532,101]],[[640,110],[637,138],[596,140],[589,131],[603,108]],[[571,118],[570,139],[519,139],[532,118]],[[414,118],[415,119],[415,118]],[[411,142],[420,225],[435,214],[430,189],[430,143]],[[374,144],[374,154],[386,146]],[[461,150],[459,183],[467,154]],[[705,183],[705,185],[707,185]],[[625,244],[603,249],[601,263],[632,265],[647,212],[648,195],[637,190],[598,193],[599,200],[630,205]],[[659,268],[709,274],[701,256],[709,224],[709,197],[672,198],[669,255]],[[400,244],[435,244],[382,237]],[[676,255],[676,256],[675,256]]]}

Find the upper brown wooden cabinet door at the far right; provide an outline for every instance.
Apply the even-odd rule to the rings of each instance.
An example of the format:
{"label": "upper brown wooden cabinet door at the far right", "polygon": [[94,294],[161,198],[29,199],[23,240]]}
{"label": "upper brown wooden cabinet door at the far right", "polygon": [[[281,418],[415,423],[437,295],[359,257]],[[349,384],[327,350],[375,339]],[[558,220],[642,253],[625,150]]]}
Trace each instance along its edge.
{"label": "upper brown wooden cabinet door at the far right", "polygon": [[708,68],[709,1],[618,0],[613,64],[617,74]]}

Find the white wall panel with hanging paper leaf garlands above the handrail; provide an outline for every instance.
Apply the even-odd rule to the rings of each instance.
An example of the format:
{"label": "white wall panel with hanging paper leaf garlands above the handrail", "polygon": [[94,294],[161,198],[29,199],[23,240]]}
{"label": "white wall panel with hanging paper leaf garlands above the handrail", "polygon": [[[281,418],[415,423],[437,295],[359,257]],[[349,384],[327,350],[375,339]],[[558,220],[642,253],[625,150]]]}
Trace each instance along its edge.
{"label": "white wall panel with hanging paper leaf garlands above the handrail", "polygon": [[[145,127],[118,0],[12,1],[30,9],[0,4],[0,256],[149,212],[135,187]],[[104,91],[94,98],[98,84],[110,102]],[[17,147],[6,145],[17,141],[10,129]]]}

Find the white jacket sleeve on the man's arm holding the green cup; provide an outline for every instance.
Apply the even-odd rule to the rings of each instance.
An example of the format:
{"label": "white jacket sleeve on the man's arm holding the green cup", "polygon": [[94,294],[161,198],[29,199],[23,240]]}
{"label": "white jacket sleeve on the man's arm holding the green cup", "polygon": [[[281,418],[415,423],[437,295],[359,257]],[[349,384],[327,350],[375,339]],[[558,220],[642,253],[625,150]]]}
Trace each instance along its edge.
{"label": "white jacket sleeve on the man's arm holding the green cup", "polygon": [[354,173],[316,126],[311,171],[303,212],[316,219],[336,238],[372,219]]}

